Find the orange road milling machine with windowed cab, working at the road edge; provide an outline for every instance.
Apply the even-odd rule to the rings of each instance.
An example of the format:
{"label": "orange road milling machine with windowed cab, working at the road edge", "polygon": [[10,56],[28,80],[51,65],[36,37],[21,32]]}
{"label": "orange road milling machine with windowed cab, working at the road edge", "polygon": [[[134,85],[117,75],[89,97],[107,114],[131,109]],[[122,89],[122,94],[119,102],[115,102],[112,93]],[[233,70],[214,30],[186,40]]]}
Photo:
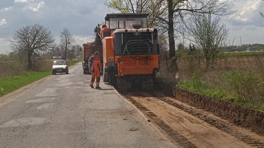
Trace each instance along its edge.
{"label": "orange road milling machine with windowed cab, working at the road edge", "polygon": [[148,28],[148,14],[107,14],[104,30],[104,82],[125,92],[153,90],[159,69],[157,29]]}

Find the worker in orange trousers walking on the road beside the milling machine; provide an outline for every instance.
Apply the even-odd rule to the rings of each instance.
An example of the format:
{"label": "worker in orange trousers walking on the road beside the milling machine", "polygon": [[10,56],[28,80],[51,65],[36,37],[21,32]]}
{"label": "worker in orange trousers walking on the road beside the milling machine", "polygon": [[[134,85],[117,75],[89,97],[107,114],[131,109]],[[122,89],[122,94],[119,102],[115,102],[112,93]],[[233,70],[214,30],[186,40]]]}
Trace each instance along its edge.
{"label": "worker in orange trousers walking on the road beside the milling machine", "polygon": [[100,84],[100,77],[101,77],[101,62],[100,62],[100,57],[99,57],[99,52],[95,52],[94,56],[90,56],[88,60],[88,67],[89,67],[89,72],[92,74],[91,76],[91,81],[90,81],[90,87],[93,87],[93,83],[96,78],[96,89],[101,89],[99,84]]}

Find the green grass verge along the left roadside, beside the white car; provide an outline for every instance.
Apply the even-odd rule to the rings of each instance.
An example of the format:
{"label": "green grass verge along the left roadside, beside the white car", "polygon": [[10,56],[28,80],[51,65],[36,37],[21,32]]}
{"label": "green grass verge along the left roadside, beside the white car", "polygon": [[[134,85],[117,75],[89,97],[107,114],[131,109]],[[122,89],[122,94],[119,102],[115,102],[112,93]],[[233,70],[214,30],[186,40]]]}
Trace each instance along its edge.
{"label": "green grass verge along the left roadside, beside the white car", "polygon": [[[80,59],[68,60],[69,66],[80,62]],[[0,77],[0,96],[13,92],[37,80],[40,80],[51,74],[51,70],[44,72],[26,72],[16,76]]]}

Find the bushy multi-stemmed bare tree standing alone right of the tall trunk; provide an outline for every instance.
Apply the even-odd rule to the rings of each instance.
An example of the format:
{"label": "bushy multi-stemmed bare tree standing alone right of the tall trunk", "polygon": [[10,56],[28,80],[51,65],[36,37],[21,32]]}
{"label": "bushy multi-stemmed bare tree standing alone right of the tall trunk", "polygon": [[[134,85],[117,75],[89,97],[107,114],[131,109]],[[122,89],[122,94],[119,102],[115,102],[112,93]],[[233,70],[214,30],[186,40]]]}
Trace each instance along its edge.
{"label": "bushy multi-stemmed bare tree standing alone right of the tall trunk", "polygon": [[192,41],[197,48],[202,50],[206,66],[214,64],[215,59],[227,45],[226,38],[228,29],[225,24],[220,24],[220,17],[212,20],[210,14],[200,15],[195,19],[195,24],[189,27]]}

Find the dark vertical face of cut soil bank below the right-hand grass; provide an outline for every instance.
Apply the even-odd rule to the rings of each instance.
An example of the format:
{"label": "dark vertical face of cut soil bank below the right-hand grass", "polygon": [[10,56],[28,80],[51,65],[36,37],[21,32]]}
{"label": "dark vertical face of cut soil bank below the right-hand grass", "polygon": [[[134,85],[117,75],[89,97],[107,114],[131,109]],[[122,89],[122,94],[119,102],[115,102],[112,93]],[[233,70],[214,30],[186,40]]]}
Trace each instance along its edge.
{"label": "dark vertical face of cut soil bank below the right-hand grass", "polygon": [[251,129],[264,135],[264,112],[256,109],[242,107],[241,105],[224,100],[193,93],[180,88],[174,89],[175,98],[189,103],[199,109],[210,111],[230,122]]}

